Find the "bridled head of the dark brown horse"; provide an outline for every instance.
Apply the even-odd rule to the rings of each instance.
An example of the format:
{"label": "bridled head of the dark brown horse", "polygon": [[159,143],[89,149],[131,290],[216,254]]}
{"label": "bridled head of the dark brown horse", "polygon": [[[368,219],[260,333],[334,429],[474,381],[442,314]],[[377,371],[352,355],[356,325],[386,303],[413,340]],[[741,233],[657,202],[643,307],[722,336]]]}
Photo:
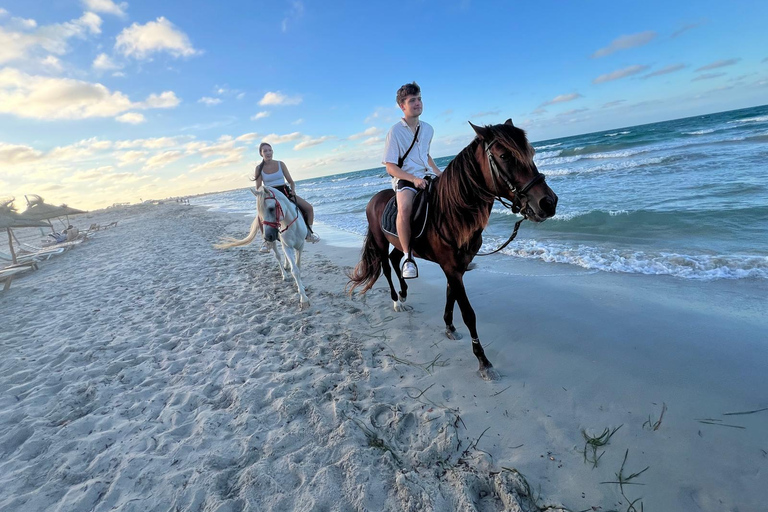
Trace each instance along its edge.
{"label": "bridled head of the dark brown horse", "polygon": [[491,192],[512,201],[513,210],[534,222],[542,222],[555,214],[557,194],[544,181],[544,175],[533,162],[535,151],[525,132],[507,119],[504,124],[475,126],[485,160],[483,173]]}

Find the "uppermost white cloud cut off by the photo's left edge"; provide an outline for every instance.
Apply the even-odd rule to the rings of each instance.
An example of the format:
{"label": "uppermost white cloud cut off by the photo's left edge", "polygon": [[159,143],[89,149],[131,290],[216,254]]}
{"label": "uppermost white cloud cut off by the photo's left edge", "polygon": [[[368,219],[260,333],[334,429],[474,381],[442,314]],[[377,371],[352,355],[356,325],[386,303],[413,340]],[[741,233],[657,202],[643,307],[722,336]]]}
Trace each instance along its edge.
{"label": "uppermost white cloud cut off by the photo's left edge", "polygon": [[0,27],[0,64],[27,59],[38,50],[63,55],[69,51],[69,39],[85,39],[89,34],[101,33],[101,18],[92,12],[76,20],[39,28],[35,20],[14,20],[20,25],[18,29]]}

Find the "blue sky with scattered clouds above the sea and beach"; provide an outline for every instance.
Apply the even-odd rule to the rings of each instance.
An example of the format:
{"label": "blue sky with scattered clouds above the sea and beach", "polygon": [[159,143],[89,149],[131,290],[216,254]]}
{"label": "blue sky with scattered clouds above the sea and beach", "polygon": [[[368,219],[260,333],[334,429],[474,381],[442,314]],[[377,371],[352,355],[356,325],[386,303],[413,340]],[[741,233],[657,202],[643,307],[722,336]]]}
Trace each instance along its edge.
{"label": "blue sky with scattered clouds above the sea and beach", "polygon": [[763,105],[766,20],[739,0],[0,0],[0,197],[243,188],[261,141],[296,181],[378,167],[414,80],[435,158],[468,121],[537,142]]}

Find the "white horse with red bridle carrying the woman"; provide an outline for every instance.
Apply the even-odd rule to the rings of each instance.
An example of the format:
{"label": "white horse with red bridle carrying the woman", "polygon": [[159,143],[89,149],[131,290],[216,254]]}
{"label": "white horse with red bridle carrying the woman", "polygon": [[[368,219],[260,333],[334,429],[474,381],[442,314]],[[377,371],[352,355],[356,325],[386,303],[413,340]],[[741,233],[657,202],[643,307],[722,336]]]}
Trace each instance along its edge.
{"label": "white horse with red bridle carrying the woman", "polygon": [[[214,247],[226,249],[248,245],[256,238],[256,234],[259,232],[259,220],[261,220],[264,225],[264,240],[267,241],[269,248],[275,254],[280,273],[283,275],[283,281],[288,279],[286,270],[290,269],[301,297],[301,309],[306,309],[309,307],[309,298],[304,292],[304,285],[301,282],[301,251],[304,250],[304,240],[308,232],[304,217],[296,205],[277,189],[263,186],[258,189],[251,189],[251,192],[256,196],[258,216],[253,220],[248,236],[242,240],[225,239],[224,242],[216,244]],[[278,239],[283,248],[284,259],[282,261],[275,243]]]}

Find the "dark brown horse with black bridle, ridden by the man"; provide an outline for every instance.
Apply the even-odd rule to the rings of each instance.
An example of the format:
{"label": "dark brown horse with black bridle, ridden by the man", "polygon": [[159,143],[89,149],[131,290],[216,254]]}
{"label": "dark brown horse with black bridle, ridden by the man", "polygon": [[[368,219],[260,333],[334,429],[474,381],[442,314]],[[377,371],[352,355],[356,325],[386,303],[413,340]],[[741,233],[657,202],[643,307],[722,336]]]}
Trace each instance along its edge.
{"label": "dark brown horse with black bridle, ridden by the man", "polygon": [[[508,119],[504,124],[475,126],[477,137],[448,164],[437,179],[429,198],[430,220],[421,237],[411,240],[414,256],[434,261],[443,269],[448,280],[446,291],[445,334],[450,339],[461,336],[453,326],[453,309],[459,303],[461,316],[472,336],[472,352],[480,362],[480,376],[486,380],[498,378],[493,365],[477,335],[475,311],[464,289],[464,273],[483,243],[483,229],[488,225],[493,202],[502,204],[534,222],[542,222],[555,214],[557,195],[547,186],[544,175],[533,162],[535,153],[525,132]],[[393,190],[382,190],[368,202],[368,234],[365,237],[360,263],[349,275],[350,293],[362,286],[368,291],[379,274],[389,283],[395,311],[405,306],[408,285],[400,273],[402,246],[397,237],[381,229],[381,216]],[[511,204],[505,204],[508,200]],[[389,252],[389,245],[394,249]],[[395,293],[391,268],[400,282]]]}

